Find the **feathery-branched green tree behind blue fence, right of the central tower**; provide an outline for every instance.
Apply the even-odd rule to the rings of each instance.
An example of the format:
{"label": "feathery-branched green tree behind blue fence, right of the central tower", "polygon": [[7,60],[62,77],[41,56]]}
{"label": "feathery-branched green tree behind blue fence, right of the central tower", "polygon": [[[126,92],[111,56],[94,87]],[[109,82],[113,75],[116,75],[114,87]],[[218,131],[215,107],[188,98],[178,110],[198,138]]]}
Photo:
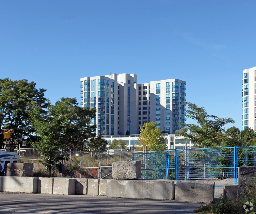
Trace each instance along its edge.
{"label": "feathery-branched green tree behind blue fence, right of the central tower", "polygon": [[[234,123],[231,118],[218,118],[215,115],[208,115],[204,107],[185,102],[188,105],[187,118],[194,119],[198,125],[182,124],[189,129],[189,133],[181,133],[183,138],[190,139],[198,146],[215,147],[223,145],[225,136],[222,128],[227,123]],[[209,118],[212,118],[209,120]]]}

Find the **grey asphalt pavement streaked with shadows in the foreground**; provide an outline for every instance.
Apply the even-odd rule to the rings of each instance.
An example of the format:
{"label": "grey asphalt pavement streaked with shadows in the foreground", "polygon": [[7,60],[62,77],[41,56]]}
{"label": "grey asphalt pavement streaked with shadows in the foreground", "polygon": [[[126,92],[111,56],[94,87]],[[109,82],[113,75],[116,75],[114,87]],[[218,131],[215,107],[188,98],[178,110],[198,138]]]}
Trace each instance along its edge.
{"label": "grey asphalt pavement streaked with shadows in the foreground", "polygon": [[0,192],[0,213],[193,213],[201,203],[170,200],[110,198],[89,195],[50,195]]}

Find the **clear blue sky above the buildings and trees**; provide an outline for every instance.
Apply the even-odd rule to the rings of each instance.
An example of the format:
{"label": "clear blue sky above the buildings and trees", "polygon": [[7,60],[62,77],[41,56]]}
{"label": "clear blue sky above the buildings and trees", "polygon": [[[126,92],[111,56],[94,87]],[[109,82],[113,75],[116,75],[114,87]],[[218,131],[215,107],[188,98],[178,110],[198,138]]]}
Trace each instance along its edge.
{"label": "clear blue sky above the buildings and trees", "polygon": [[241,74],[256,66],[255,8],[246,0],[0,1],[0,78],[35,81],[52,103],[80,103],[81,77],[179,78],[187,101],[241,129]]}

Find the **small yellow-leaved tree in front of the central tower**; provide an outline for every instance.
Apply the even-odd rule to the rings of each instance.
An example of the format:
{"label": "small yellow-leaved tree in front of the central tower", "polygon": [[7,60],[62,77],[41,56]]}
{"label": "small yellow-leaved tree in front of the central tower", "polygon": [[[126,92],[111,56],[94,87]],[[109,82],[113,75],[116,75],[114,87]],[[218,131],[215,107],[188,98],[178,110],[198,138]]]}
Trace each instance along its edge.
{"label": "small yellow-leaved tree in front of the central tower", "polygon": [[141,127],[141,134],[138,138],[140,148],[147,146],[149,151],[166,150],[166,138],[161,136],[162,130],[156,127],[156,123],[148,122]]}

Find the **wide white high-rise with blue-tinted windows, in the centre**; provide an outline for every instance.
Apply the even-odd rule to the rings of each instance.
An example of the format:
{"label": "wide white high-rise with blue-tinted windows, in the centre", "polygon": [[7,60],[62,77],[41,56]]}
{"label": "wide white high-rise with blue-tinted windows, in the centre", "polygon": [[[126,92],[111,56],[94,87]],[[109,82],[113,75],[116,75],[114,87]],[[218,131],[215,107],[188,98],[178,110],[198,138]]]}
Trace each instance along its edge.
{"label": "wide white high-rise with blue-tinted windows, in the centre", "polygon": [[165,79],[137,84],[136,74],[84,77],[81,105],[95,108],[96,133],[138,134],[145,122],[157,122],[164,132],[174,134],[185,124],[186,82]]}

